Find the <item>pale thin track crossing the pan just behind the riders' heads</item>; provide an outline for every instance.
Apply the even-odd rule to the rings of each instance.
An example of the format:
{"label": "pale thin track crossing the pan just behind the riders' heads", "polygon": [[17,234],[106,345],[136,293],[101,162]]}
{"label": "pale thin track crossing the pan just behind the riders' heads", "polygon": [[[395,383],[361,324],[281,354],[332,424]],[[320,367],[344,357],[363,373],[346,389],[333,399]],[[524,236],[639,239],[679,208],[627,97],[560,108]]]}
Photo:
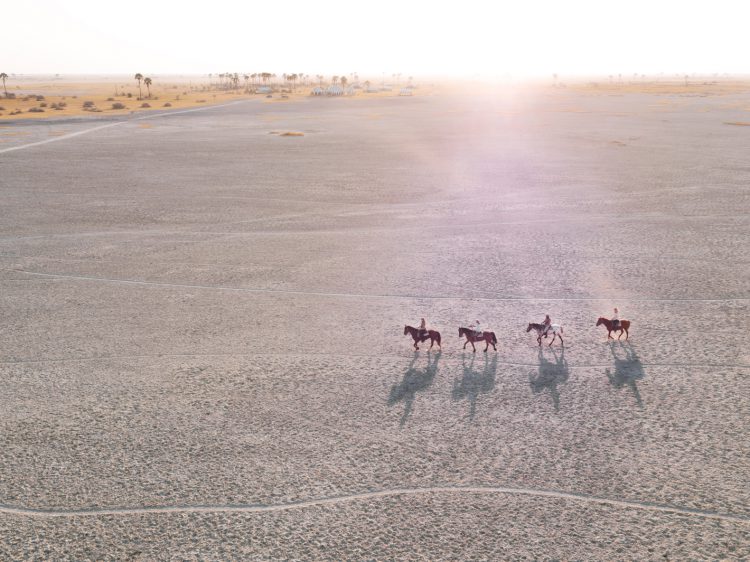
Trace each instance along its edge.
{"label": "pale thin track crossing the pan just behind the riders' heads", "polygon": [[[65,273],[40,273],[25,269],[5,269],[26,275],[48,277],[50,279],[71,279],[74,281],[98,281],[102,283],[121,283],[123,285],[142,285],[151,287],[168,287],[177,289],[205,289],[214,291],[232,291],[238,293],[266,293],[272,295],[302,295],[333,298],[355,298],[355,299],[423,299],[423,300],[470,300],[470,301],[531,301],[531,302],[609,302],[611,297],[462,297],[462,296],[430,296],[430,295],[388,295],[372,293],[331,293],[324,291],[300,291],[294,289],[256,289],[252,287],[226,287],[223,285],[197,285],[190,283],[166,283],[161,281],[140,281],[137,279],[116,279],[112,277],[92,277],[88,275],[68,275]],[[639,299],[621,298],[620,302],[744,302],[748,298],[724,298],[724,299]]]}

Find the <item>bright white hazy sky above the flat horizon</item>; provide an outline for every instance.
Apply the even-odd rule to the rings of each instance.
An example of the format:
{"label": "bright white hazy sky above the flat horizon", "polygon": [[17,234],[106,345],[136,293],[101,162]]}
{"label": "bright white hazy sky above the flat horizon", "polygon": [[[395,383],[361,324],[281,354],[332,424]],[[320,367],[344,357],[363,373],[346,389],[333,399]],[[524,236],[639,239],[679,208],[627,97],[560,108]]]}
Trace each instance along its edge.
{"label": "bright white hazy sky above the flat horizon", "polygon": [[6,2],[0,72],[750,72],[750,0]]}

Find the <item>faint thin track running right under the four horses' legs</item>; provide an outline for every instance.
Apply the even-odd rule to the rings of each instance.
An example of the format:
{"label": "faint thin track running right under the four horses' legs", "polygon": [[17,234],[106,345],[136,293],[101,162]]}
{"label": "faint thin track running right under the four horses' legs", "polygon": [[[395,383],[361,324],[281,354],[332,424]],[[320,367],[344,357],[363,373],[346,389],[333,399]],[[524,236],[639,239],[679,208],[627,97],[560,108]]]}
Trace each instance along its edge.
{"label": "faint thin track running right under the four horses' legs", "polygon": [[[555,351],[559,351],[556,348]],[[423,351],[421,353],[428,353]],[[461,352],[431,352],[434,354],[445,353],[446,356],[442,357],[441,361],[458,361],[460,356],[464,353],[469,354],[468,351]],[[471,354],[473,355],[473,353]],[[19,359],[10,361],[0,361],[0,365],[27,365],[33,363],[78,363],[87,361],[119,361],[124,359],[183,359],[183,358],[198,358],[198,357],[367,357],[373,359],[408,359],[412,360],[412,355],[395,355],[388,353],[327,353],[311,351],[308,353],[156,353],[152,355],[148,354],[134,354],[134,355],[101,355],[92,357],[59,357],[59,358],[48,358],[48,359]],[[425,355],[426,356],[426,355]],[[539,363],[518,363],[512,361],[496,361],[498,365],[505,365],[508,367],[538,367]],[[644,367],[706,367],[716,369],[750,369],[750,365],[742,364],[731,364],[731,363],[648,363],[641,362]],[[612,363],[569,363],[568,367],[571,369],[599,369],[612,367]]]}

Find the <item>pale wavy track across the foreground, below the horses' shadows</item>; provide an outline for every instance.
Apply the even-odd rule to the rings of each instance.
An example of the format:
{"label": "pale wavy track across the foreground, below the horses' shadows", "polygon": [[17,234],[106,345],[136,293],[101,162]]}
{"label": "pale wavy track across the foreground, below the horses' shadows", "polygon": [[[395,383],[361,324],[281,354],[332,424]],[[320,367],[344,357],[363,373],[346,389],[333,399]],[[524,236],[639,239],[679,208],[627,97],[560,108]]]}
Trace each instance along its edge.
{"label": "pale wavy track across the foreground, below the horses' shadows", "polygon": [[337,505],[357,500],[368,500],[384,498],[390,496],[406,496],[421,494],[454,494],[454,493],[474,493],[474,494],[507,494],[534,496],[541,498],[554,498],[563,500],[573,500],[586,503],[598,503],[621,507],[625,509],[643,509],[648,511],[657,511],[661,513],[677,515],[694,515],[707,519],[718,519],[721,521],[731,521],[732,523],[750,523],[750,516],[733,515],[729,513],[720,513],[703,509],[693,509],[688,507],[677,507],[662,505],[652,502],[639,502],[629,500],[616,500],[599,496],[590,496],[575,492],[561,492],[557,490],[536,490],[533,488],[505,488],[494,486],[435,486],[429,488],[395,488],[393,490],[380,490],[376,492],[364,492],[361,494],[351,494],[346,496],[336,496],[329,498],[320,498],[315,500],[305,500],[286,504],[264,505],[264,504],[238,504],[238,505],[183,505],[183,506],[154,506],[154,507],[118,507],[118,508],[88,508],[88,509],[69,509],[69,510],[51,510],[51,509],[29,509],[0,505],[0,513],[9,515],[24,515],[29,517],[85,517],[85,516],[105,516],[105,515],[147,515],[147,514],[169,514],[169,513],[264,513],[288,511],[291,509],[305,509],[308,507],[318,507],[324,505]]}

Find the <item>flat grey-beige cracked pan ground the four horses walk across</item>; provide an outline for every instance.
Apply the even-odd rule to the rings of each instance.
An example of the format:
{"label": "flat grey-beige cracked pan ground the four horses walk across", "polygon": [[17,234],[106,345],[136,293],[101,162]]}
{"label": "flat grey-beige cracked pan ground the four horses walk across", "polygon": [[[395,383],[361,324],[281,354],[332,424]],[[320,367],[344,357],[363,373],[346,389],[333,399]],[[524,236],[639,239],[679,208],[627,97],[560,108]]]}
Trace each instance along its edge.
{"label": "flat grey-beige cracked pan ground the four horses walk across", "polygon": [[0,558],[749,558],[748,105],[0,129]]}

